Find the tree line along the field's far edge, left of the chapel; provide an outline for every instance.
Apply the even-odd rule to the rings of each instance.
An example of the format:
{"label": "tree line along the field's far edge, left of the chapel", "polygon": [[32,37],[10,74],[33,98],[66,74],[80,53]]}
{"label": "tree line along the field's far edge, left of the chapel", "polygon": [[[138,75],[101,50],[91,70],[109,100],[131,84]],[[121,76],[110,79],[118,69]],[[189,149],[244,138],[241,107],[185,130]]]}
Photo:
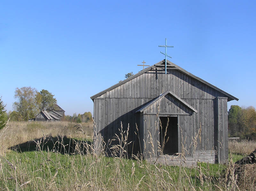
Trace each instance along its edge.
{"label": "tree line along the field's far edge, left of the chapel", "polygon": [[[13,111],[6,112],[5,104],[0,97],[0,129],[4,127],[6,121],[28,121],[30,118],[36,117],[40,111],[55,110],[57,99],[48,90],[41,90],[38,92],[36,88],[21,87],[16,88],[14,92],[16,101],[13,103]],[[61,120],[74,121],[74,122],[88,122],[92,120],[91,112],[84,114],[73,114],[72,116],[62,116]]]}

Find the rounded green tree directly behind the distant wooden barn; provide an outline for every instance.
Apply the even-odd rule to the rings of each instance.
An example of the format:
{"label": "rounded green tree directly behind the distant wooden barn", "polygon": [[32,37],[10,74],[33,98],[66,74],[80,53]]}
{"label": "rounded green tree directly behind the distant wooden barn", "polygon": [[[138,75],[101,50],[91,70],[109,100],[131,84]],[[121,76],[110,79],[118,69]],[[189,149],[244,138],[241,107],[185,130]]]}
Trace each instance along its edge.
{"label": "rounded green tree directly behind the distant wooden barn", "polygon": [[51,92],[48,90],[41,90],[36,93],[36,106],[40,111],[51,111],[54,110],[54,105],[57,103],[57,100],[53,97]]}

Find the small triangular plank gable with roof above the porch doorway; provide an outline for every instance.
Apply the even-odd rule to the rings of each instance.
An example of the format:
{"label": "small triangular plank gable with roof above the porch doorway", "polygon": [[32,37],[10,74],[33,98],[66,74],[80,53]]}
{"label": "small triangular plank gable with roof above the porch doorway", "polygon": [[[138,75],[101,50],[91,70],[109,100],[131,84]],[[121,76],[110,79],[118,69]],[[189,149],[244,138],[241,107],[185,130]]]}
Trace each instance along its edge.
{"label": "small triangular plank gable with roof above the porch doorway", "polygon": [[[162,99],[165,99],[165,100],[162,100]],[[176,102],[174,102],[174,100]],[[156,97],[151,102],[149,102],[146,106],[136,111],[136,113],[139,113],[139,112],[140,113],[142,112],[157,113],[158,111],[156,111],[157,109],[154,106],[154,104],[157,101],[159,101],[159,113],[188,113],[187,112],[188,109],[192,112],[198,113],[198,111],[194,107],[190,106],[187,102],[185,102],[183,99],[181,99],[179,96],[175,95],[171,91],[167,91],[164,94]],[[163,103],[165,105],[164,107],[162,105]],[[177,112],[177,109],[174,111],[175,107],[178,108],[179,112]]]}

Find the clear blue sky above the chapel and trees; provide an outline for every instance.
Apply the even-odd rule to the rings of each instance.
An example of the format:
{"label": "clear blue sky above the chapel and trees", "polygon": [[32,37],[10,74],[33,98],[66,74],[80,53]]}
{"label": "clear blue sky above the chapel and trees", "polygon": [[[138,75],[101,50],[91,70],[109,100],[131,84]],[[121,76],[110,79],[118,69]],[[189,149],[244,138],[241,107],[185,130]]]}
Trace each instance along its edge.
{"label": "clear blue sky above the chapel and trees", "polygon": [[46,89],[66,114],[93,111],[90,96],[164,59],[254,106],[255,1],[1,1],[0,95]]}

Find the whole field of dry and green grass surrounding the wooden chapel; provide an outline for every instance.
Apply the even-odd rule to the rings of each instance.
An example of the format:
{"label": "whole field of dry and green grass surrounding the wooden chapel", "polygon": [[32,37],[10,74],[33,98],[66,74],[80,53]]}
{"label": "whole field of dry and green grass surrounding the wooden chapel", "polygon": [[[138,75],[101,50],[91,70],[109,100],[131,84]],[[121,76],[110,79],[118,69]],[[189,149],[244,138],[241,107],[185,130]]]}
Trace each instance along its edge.
{"label": "whole field of dry and green grass surrounding the wooden chapel", "polygon": [[232,161],[254,150],[255,142],[230,142],[228,165],[150,165],[94,155],[92,123],[81,125],[9,122],[0,132],[0,190],[250,190],[255,186],[228,177],[234,171]]}

